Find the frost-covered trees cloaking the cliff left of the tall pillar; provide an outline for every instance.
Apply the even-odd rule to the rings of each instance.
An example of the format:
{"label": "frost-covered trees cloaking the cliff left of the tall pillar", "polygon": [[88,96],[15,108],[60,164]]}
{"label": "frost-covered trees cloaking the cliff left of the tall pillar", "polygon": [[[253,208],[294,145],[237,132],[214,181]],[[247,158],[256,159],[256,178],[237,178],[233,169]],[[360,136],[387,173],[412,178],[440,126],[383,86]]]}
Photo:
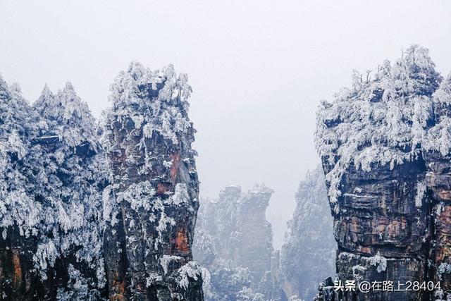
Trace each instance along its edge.
{"label": "frost-covered trees cloaking the cliff left of the tall pillar", "polygon": [[[105,284],[104,164],[97,140],[94,118],[70,83],[57,94],[44,87],[31,107],[18,85],[8,87],[0,78],[2,243],[20,249],[30,242],[32,247],[17,260],[32,261],[40,281],[68,275],[67,283],[60,283],[64,289],[54,284],[61,300],[69,287],[71,294],[87,298]],[[20,235],[23,242],[8,240],[8,235],[16,240]]]}

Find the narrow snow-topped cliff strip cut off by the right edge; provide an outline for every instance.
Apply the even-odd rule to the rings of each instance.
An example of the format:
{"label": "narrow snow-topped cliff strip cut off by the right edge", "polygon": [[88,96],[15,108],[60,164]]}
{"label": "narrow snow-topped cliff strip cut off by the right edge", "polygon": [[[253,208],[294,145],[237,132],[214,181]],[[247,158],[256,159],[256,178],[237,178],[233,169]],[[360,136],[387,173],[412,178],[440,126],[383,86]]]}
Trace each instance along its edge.
{"label": "narrow snow-topped cliff strip cut off by the right edge", "polygon": [[445,299],[451,295],[451,75],[433,95],[434,125],[424,143],[425,185],[431,195],[432,240],[428,277],[440,281]]}

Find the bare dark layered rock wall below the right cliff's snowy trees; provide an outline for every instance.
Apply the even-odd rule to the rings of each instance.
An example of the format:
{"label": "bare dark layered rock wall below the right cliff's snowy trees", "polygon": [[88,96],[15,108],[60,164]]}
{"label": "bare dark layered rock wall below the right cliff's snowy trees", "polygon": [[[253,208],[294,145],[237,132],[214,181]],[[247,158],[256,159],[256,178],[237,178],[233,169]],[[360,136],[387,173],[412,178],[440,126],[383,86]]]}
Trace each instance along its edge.
{"label": "bare dark layered rock wall below the right cliff's snowy trees", "polygon": [[[423,164],[421,164],[423,163]],[[430,239],[428,209],[415,206],[416,185],[424,181],[424,161],[393,170],[348,170],[343,182],[345,214],[334,216],[338,278],[356,281],[426,281]],[[344,188],[345,186],[343,186]],[[425,202],[422,199],[420,202]],[[374,261],[381,256],[380,261]],[[419,292],[365,293],[359,300],[409,300]],[[346,295],[346,294],[345,294]],[[349,293],[348,295],[354,295]]]}

